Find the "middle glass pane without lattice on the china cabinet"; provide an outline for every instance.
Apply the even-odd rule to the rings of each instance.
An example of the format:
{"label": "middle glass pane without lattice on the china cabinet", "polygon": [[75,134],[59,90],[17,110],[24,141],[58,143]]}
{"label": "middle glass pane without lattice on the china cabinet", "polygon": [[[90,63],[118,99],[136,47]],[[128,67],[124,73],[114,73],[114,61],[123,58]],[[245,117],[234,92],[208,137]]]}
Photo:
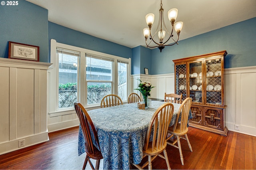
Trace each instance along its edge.
{"label": "middle glass pane without lattice on the china cabinet", "polygon": [[193,102],[202,103],[202,61],[189,64],[189,95]]}

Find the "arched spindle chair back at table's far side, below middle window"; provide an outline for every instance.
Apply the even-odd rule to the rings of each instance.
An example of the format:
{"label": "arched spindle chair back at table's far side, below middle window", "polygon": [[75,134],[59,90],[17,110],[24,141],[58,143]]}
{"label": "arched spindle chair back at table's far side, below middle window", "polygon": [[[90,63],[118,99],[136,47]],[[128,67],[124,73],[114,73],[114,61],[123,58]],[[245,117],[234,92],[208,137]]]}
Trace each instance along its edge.
{"label": "arched spindle chair back at table's far side, below middle window", "polygon": [[118,95],[106,95],[100,103],[100,108],[122,105],[123,101]]}

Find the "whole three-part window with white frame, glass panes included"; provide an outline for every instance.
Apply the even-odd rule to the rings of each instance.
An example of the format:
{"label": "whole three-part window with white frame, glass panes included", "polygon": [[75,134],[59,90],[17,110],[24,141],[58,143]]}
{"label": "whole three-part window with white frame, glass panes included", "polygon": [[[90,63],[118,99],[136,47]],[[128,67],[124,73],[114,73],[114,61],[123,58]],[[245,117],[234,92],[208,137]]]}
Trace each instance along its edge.
{"label": "whole three-part window with white frame, glass panes included", "polygon": [[102,98],[109,94],[120,96],[125,103],[130,91],[130,61],[51,40],[50,116],[73,113],[75,102],[85,108],[98,107]]}

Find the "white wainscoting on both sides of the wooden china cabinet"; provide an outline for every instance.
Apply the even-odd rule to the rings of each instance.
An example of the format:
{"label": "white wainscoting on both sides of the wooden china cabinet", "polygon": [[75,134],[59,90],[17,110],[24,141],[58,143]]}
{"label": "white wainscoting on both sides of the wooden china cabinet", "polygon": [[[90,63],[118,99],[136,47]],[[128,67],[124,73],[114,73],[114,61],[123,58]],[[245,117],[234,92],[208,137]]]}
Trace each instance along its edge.
{"label": "white wainscoting on both sides of the wooden china cabinet", "polygon": [[[164,92],[175,93],[173,73],[151,77],[132,75],[132,80],[137,78],[149,80],[157,86],[151,91],[152,98],[164,99]],[[225,69],[224,82],[226,127],[234,132],[256,136],[256,66]],[[138,85],[133,83],[132,88],[136,87]]]}

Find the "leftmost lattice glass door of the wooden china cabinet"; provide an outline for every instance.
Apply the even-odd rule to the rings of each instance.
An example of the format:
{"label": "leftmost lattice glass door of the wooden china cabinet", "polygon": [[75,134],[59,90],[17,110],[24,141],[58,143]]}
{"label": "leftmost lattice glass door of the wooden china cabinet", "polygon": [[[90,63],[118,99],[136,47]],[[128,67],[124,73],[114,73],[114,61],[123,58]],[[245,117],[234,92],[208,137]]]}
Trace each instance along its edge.
{"label": "leftmost lattice glass door of the wooden china cabinet", "polygon": [[182,101],[186,99],[186,64],[176,65],[176,87],[175,93],[182,94]]}

